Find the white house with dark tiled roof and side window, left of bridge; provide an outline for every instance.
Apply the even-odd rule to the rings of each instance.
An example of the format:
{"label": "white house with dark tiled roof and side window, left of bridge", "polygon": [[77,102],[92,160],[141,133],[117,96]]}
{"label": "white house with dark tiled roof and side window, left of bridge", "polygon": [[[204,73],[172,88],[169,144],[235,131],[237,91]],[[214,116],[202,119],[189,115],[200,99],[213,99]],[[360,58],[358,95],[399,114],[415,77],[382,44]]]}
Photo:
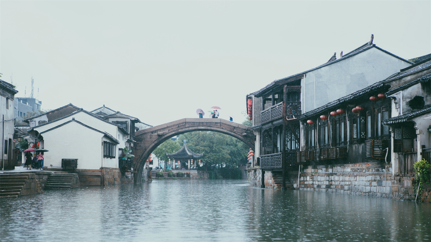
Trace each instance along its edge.
{"label": "white house with dark tiled roof and side window, left of bridge", "polygon": [[122,149],[131,144],[122,125],[106,121],[98,115],[79,109],[62,118],[28,130],[29,137],[48,149],[44,166],[62,167],[62,159],[78,159],[76,169],[119,168]]}

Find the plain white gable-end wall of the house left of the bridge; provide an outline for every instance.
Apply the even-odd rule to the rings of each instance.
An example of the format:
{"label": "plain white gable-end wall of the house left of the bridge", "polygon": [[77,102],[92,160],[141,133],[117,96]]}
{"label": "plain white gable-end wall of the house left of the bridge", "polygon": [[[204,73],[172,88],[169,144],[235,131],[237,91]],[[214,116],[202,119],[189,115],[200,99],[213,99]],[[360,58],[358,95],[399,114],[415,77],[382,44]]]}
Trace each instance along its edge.
{"label": "plain white gable-end wall of the house left of the bridge", "polygon": [[[61,167],[61,159],[78,159],[78,169],[99,169],[102,166],[103,133],[70,122],[43,133],[44,166]],[[118,166],[118,165],[117,165]]]}

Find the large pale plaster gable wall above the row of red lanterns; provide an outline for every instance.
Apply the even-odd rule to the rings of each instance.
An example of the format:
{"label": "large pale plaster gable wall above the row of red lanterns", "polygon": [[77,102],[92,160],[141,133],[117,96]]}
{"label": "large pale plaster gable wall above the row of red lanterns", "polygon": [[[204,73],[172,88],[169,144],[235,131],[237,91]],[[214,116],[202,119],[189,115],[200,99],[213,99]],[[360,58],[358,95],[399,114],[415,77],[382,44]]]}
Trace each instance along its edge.
{"label": "large pale plaster gable wall above the row of red lanterns", "polygon": [[377,48],[371,48],[343,61],[310,71],[301,80],[302,112],[309,112],[382,81],[409,65],[411,64]]}

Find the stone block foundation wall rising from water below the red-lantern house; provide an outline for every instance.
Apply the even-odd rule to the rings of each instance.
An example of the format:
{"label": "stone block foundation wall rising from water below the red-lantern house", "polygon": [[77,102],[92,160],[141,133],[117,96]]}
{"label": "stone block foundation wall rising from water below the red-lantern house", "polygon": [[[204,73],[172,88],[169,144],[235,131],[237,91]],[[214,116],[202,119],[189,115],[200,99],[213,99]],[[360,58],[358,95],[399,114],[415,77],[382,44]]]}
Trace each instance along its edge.
{"label": "stone block foundation wall rising from water below the red-lantern house", "polygon": [[[298,188],[298,171],[289,177]],[[299,189],[399,200],[415,200],[413,176],[392,176],[388,167],[378,163],[304,166]]]}

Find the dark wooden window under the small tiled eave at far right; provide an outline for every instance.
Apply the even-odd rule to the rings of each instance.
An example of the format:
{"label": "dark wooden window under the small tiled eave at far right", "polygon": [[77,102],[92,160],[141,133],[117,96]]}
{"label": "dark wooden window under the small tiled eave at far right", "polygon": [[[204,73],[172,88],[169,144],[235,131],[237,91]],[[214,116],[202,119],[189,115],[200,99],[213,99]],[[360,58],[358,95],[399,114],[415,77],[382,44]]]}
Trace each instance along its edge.
{"label": "dark wooden window under the small tiled eave at far right", "polygon": [[412,122],[406,122],[394,128],[394,152],[413,152],[416,131]]}

